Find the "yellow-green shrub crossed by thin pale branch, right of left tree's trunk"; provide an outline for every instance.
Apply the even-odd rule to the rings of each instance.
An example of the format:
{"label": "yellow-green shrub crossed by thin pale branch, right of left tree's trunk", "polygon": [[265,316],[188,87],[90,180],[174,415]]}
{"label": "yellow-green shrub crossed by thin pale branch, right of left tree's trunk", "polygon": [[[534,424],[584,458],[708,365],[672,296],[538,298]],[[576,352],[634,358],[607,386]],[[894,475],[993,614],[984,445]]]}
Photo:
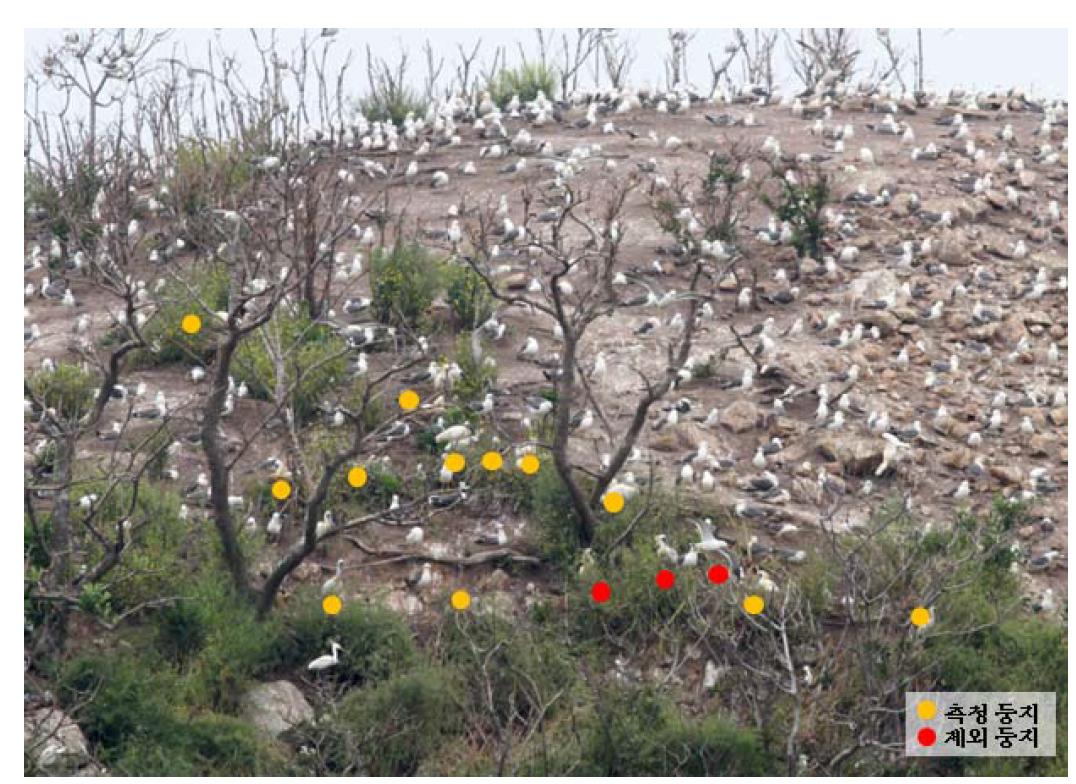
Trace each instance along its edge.
{"label": "yellow-green shrub crossed by thin pale branch, right of left tree's trunk", "polygon": [[[284,357],[284,384],[296,419],[309,422],[317,413],[325,394],[348,373],[346,345],[331,327],[315,324],[306,314],[279,312],[261,327],[269,331]],[[277,368],[266,341],[254,334],[243,341],[232,364],[236,382],[246,382],[252,398],[272,400],[278,383]]]}

